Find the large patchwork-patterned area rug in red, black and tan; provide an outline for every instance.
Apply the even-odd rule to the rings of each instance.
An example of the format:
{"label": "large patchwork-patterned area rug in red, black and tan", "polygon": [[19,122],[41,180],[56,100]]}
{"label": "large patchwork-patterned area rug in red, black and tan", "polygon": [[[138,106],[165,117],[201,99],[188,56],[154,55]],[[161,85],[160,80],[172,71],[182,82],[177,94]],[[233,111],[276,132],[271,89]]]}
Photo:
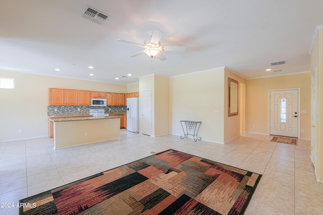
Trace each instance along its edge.
{"label": "large patchwork-patterned area rug in red, black and tan", "polygon": [[19,214],[243,214],[261,175],[175,150],[20,200]]}

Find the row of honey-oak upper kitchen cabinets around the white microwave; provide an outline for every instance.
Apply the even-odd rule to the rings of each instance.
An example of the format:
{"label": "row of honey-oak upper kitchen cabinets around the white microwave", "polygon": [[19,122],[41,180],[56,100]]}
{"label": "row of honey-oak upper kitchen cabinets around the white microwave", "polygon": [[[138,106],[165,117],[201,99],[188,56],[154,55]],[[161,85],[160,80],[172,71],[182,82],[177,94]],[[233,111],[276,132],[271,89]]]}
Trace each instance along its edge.
{"label": "row of honey-oak upper kitchen cabinets around the white microwave", "polygon": [[127,98],[139,97],[139,92],[135,93],[107,93],[86,90],[69,90],[49,88],[49,105],[79,105],[90,106],[91,98],[106,99],[106,105],[127,105]]}

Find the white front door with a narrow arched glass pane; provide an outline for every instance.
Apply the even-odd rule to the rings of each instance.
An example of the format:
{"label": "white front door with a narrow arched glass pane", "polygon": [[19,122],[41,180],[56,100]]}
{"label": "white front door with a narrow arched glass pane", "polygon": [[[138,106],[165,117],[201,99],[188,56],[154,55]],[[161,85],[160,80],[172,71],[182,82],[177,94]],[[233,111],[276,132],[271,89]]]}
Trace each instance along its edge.
{"label": "white front door with a narrow arched glass pane", "polygon": [[271,135],[298,137],[298,117],[298,90],[271,91]]}

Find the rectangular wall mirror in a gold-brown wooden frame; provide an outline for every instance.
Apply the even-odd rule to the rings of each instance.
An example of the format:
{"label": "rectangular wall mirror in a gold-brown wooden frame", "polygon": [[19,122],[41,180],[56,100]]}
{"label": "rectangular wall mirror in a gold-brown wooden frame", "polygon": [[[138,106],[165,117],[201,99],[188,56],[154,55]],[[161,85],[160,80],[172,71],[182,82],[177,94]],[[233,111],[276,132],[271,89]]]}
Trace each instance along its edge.
{"label": "rectangular wall mirror in a gold-brown wooden frame", "polygon": [[228,78],[228,116],[238,115],[238,81]]}

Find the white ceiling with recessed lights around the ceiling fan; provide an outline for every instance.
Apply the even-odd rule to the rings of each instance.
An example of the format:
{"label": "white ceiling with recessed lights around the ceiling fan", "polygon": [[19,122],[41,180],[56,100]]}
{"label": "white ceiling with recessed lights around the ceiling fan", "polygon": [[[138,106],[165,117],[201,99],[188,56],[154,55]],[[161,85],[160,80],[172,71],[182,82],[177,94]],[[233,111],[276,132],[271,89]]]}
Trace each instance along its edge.
{"label": "white ceiling with recessed lights around the ceiling fan", "polygon": [[[111,18],[103,25],[82,18],[86,5]],[[244,78],[300,73],[310,70],[322,9],[321,0],[1,0],[0,69],[118,84],[221,66]],[[153,30],[164,32],[161,45],[186,51],[150,62],[130,57],[140,46],[117,41],[143,44]],[[287,64],[270,66],[281,60]]]}

